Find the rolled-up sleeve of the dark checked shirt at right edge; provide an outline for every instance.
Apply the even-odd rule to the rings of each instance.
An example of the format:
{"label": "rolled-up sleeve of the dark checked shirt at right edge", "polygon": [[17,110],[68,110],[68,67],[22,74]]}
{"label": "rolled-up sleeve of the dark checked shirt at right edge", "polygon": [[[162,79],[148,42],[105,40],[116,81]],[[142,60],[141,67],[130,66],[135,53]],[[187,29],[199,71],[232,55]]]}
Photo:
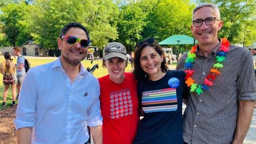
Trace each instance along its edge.
{"label": "rolled-up sleeve of the dark checked shirt at right edge", "polygon": [[238,77],[238,101],[256,100],[255,72],[251,54],[246,54]]}

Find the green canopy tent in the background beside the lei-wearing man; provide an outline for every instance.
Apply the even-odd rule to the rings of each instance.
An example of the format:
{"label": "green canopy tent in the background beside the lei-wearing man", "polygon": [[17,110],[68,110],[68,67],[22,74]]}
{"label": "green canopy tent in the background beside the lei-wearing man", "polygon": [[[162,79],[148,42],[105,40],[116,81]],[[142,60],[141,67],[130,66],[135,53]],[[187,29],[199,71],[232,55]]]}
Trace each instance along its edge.
{"label": "green canopy tent in the background beside the lei-wearing man", "polygon": [[172,35],[163,41],[160,41],[160,45],[170,45],[170,44],[178,44],[178,53],[179,53],[179,44],[194,44],[197,43],[197,40],[193,37],[187,35]]}

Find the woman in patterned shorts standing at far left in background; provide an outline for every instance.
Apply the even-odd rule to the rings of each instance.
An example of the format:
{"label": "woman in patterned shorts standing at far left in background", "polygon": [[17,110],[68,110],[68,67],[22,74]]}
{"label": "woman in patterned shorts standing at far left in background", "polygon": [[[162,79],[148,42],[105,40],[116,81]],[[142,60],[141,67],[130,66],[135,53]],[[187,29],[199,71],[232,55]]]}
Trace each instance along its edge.
{"label": "woman in patterned shorts standing at far left in background", "polygon": [[2,106],[6,106],[7,93],[9,89],[9,85],[12,86],[12,105],[15,105],[16,100],[16,83],[17,79],[15,76],[15,64],[12,62],[11,54],[9,52],[5,52],[4,54],[5,61],[0,64],[0,72],[3,74],[3,83],[5,86],[4,94],[3,94],[3,104]]}

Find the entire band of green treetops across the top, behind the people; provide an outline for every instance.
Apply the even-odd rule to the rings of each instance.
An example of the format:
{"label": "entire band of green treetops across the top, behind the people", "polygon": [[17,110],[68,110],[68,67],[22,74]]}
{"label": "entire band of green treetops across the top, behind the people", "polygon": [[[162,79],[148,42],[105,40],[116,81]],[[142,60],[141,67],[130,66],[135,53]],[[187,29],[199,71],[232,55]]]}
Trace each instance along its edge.
{"label": "entire band of green treetops across the top, behind the people", "polygon": [[[206,1],[220,8],[224,25],[219,37],[245,45],[256,41],[255,0],[199,2]],[[101,49],[118,41],[131,51],[148,37],[161,41],[174,34],[192,36],[194,7],[189,0],[1,0],[0,43],[14,46],[33,39],[45,49],[58,49],[60,30],[76,21],[88,28],[93,46]]]}

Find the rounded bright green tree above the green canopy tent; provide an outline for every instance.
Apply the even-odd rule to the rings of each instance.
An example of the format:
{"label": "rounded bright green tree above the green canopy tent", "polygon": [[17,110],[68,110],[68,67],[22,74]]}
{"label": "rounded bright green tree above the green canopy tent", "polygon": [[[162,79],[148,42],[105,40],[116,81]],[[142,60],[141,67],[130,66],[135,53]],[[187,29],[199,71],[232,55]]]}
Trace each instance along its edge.
{"label": "rounded bright green tree above the green canopy tent", "polygon": [[147,17],[143,37],[154,36],[161,41],[171,35],[191,35],[191,11],[189,1],[161,0]]}

